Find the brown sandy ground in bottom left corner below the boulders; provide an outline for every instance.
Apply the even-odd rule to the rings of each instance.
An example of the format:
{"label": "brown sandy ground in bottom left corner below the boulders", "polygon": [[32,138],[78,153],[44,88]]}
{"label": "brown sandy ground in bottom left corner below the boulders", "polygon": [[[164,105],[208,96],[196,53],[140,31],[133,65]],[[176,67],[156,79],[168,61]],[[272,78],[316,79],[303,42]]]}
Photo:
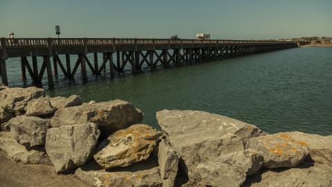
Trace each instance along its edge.
{"label": "brown sandy ground in bottom left corner below the boulders", "polygon": [[0,151],[0,187],[70,186],[87,187],[74,175],[57,175],[51,166],[26,165],[6,159]]}

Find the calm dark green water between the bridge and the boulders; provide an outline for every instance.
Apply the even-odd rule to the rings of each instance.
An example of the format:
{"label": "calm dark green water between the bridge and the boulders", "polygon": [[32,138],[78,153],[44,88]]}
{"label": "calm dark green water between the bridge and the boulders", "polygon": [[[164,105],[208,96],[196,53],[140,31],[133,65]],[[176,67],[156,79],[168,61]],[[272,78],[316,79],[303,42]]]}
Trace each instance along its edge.
{"label": "calm dark green water between the bridge and the boulders", "polygon": [[[7,64],[10,84],[20,86],[19,60]],[[332,48],[293,48],[112,80],[109,74],[91,75],[88,84],[80,77],[74,83],[59,77],[47,94],[127,100],[145,113],[144,123],[157,128],[157,111],[192,109],[237,118],[269,133],[332,134]]]}

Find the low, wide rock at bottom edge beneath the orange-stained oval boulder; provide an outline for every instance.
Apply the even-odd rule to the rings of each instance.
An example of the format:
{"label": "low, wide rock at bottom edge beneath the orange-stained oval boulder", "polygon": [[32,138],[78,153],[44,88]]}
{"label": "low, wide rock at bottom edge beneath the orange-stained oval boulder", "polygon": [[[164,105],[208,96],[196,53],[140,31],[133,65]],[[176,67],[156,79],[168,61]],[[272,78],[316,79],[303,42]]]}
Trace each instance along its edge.
{"label": "low, wide rock at bottom edge beneath the orange-stained oval boulder", "polygon": [[148,159],[124,168],[104,170],[90,162],[75,172],[77,178],[89,186],[98,187],[161,187],[160,172],[156,159]]}

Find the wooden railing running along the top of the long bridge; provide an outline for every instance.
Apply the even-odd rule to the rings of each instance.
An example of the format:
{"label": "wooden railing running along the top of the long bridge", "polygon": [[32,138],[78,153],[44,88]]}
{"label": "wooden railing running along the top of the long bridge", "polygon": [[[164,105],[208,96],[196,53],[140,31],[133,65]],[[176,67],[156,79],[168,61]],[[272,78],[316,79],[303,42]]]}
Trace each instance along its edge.
{"label": "wooden railing running along the top of the long bridge", "polygon": [[277,40],[230,40],[230,39],[136,39],[136,38],[1,38],[0,48],[3,45],[7,50],[28,48],[116,48],[117,51],[149,50],[154,48],[192,48],[209,47],[220,44],[286,44]]}

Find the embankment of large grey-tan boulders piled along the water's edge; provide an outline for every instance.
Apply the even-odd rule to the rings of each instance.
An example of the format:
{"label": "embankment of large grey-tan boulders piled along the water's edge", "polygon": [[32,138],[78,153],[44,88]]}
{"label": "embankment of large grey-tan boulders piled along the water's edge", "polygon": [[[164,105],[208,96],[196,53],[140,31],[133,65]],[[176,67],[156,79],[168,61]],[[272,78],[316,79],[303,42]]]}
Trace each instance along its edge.
{"label": "embankment of large grey-tan boulders piled along the water's edge", "polygon": [[332,186],[332,136],[190,110],[157,112],[160,132],[142,116],[123,100],[0,85],[0,151],[89,186]]}

